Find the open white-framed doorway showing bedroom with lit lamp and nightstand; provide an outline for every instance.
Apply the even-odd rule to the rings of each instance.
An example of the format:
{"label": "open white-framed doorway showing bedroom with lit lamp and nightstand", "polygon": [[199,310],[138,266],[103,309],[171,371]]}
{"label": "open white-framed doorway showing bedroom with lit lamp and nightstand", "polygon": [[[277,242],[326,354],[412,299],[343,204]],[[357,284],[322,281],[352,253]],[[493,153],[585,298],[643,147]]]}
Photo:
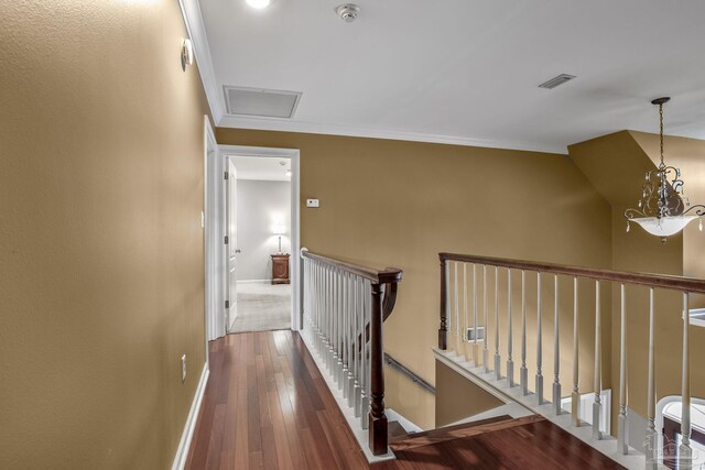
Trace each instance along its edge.
{"label": "open white-framed doorway showing bedroom with lit lamp and nightstand", "polygon": [[226,331],[299,329],[299,151],[220,145]]}

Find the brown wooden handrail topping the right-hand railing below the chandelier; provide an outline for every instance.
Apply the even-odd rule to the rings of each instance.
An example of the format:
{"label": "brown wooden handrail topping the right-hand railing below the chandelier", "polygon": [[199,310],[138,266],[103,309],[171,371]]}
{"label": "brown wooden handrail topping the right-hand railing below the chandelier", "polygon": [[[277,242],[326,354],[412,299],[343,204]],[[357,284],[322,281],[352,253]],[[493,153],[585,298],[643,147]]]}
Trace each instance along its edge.
{"label": "brown wooden handrail topping the right-hand railing below the chandelier", "polygon": [[599,270],[596,267],[570,266],[563,264],[540,263],[535,261],[508,260],[502,258],[476,256],[471,254],[438,253],[441,264],[446,261],[485,264],[488,266],[510,267],[512,270],[536,271],[541,273],[564,274],[598,281],[612,281],[625,284],[638,284],[647,287],[668,288],[680,292],[705,294],[705,280],[674,276],[668,274],[641,274],[626,271]]}

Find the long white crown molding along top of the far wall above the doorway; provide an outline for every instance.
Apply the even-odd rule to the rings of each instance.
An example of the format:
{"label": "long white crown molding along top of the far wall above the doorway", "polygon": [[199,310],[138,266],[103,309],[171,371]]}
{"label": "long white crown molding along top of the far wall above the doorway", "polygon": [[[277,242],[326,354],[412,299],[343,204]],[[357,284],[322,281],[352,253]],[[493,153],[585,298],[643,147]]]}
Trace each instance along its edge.
{"label": "long white crown molding along top of the far wall above the doorway", "polygon": [[562,145],[545,145],[538,142],[495,141],[456,135],[426,134],[421,132],[372,129],[356,125],[321,124],[315,122],[290,121],[282,119],[254,119],[224,116],[218,122],[220,128],[252,129],[261,131],[302,132],[311,134],[345,135],[355,138],[390,139],[410,142],[443,143],[451,145],[479,146],[488,149],[523,150],[530,152],[567,154]]}

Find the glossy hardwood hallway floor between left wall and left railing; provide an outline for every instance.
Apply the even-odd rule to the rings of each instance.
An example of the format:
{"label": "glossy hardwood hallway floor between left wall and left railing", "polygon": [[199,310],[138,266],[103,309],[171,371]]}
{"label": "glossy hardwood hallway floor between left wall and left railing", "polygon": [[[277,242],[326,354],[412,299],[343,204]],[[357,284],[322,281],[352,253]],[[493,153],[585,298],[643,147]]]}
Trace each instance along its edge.
{"label": "glossy hardwood hallway floor between left wall and left railing", "polygon": [[291,330],[210,342],[186,469],[367,468],[303,340]]}

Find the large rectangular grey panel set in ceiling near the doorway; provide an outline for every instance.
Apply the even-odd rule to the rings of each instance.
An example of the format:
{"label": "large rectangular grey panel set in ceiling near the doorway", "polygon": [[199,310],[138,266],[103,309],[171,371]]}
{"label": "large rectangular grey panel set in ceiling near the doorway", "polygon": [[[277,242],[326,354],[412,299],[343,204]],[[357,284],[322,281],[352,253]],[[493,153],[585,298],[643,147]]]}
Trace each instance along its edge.
{"label": "large rectangular grey panel set in ceiling near the doorway", "polygon": [[257,116],[260,118],[284,118],[294,116],[301,99],[300,91],[264,90],[225,86],[228,114]]}

